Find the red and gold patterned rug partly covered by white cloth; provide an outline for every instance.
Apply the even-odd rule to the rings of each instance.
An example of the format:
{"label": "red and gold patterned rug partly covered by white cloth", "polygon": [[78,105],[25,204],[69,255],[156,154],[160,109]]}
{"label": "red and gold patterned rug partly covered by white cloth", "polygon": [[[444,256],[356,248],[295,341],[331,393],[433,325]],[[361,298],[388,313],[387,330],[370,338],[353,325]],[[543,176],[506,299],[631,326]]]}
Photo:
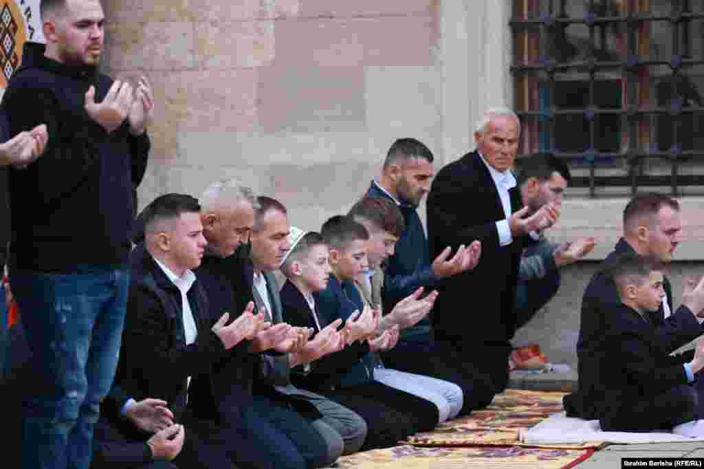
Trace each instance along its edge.
{"label": "red and gold patterned rug partly covered by white cloth", "polygon": [[563,392],[506,390],[486,409],[438,425],[432,432],[406,440],[413,446],[531,446],[548,449],[597,449],[603,442],[536,445],[520,442],[525,431],[553,413],[562,412]]}

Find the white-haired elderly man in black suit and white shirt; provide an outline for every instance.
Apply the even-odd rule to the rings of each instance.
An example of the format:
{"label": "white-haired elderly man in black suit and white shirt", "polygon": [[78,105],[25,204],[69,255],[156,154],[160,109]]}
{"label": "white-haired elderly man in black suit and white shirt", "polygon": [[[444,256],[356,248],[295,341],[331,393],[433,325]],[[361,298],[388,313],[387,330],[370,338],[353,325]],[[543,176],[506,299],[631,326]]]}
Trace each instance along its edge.
{"label": "white-haired elderly man in black suit and white shirt", "polygon": [[427,201],[430,255],[448,245],[482,243],[479,265],[439,285],[432,314],[436,341],[471,371],[477,386],[501,392],[508,383],[513,303],[524,236],[551,226],[555,205],[531,214],[511,172],[520,122],[513,111],[487,110],[474,131],[477,150],[446,165]]}

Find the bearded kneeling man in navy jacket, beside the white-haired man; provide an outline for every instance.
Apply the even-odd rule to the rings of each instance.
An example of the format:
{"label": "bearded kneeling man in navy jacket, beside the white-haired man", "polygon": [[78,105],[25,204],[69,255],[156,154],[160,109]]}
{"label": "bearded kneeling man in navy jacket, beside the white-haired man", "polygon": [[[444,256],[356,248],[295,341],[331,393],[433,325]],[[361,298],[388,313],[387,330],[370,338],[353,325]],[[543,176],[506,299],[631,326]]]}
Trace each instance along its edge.
{"label": "bearded kneeling man in navy jacket, beside the white-haired man", "polygon": [[[416,139],[398,139],[386,155],[382,177],[372,181],[367,197],[389,198],[398,205],[406,222],[406,229],[398,238],[394,252],[384,270],[382,302],[384,311],[391,311],[396,303],[412,294],[418,287],[432,290],[442,278],[471,269],[470,252],[479,255],[479,243],[473,243],[465,254],[449,249],[441,252],[431,263],[427,238],[417,207],[428,193],[434,175],[433,154]],[[481,260],[479,261],[481,262]],[[482,392],[486,386],[476,385],[472,370],[465,370],[456,360],[448,358],[434,342],[428,317],[415,326],[401,331],[401,340],[394,349],[382,353],[384,364],[408,373],[432,376],[459,385],[464,393],[460,416],[472,409],[486,406],[494,394]]]}

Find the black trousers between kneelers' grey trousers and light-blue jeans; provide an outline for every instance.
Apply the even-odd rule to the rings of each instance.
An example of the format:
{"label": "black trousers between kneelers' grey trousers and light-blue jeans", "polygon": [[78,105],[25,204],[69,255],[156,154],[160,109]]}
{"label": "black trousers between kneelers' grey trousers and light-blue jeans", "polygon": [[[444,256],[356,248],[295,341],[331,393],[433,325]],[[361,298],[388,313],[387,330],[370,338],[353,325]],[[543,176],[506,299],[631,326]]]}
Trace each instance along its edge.
{"label": "black trousers between kneelers' grey trousers and light-blue jeans", "polygon": [[431,401],[377,381],[347,389],[315,390],[358,413],[367,423],[367,439],[360,451],[396,446],[416,432],[437,425],[438,408]]}

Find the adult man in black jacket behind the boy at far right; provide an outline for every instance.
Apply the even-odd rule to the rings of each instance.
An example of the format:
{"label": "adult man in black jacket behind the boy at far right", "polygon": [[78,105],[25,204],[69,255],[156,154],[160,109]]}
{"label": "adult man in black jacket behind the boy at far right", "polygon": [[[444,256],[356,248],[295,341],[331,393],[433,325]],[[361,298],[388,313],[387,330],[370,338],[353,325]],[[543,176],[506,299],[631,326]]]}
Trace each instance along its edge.
{"label": "adult man in black jacket behind the boy at far right", "polygon": [[[624,209],[623,237],[603,265],[608,265],[624,254],[637,254],[653,258],[663,265],[670,264],[681,238],[681,230],[677,200],[660,193],[638,194]],[[700,290],[693,290],[697,292],[693,294],[687,288],[681,306],[674,310],[672,286],[667,276],[663,277],[662,287],[665,296],[662,297],[660,309],[648,314],[648,321],[653,323],[654,343],[661,352],[669,354],[704,332],[699,319],[704,303],[700,298]],[[570,416],[597,418],[603,405],[597,352],[603,348],[603,341],[608,338],[608,315],[612,314],[612,309],[619,303],[615,283],[603,271],[594,274],[582,297],[577,340],[578,391],[565,396],[564,400],[565,411]],[[684,366],[693,359],[693,352],[679,354],[675,359]],[[695,387],[701,389],[701,386],[698,380]],[[701,410],[700,406],[699,412]]]}

